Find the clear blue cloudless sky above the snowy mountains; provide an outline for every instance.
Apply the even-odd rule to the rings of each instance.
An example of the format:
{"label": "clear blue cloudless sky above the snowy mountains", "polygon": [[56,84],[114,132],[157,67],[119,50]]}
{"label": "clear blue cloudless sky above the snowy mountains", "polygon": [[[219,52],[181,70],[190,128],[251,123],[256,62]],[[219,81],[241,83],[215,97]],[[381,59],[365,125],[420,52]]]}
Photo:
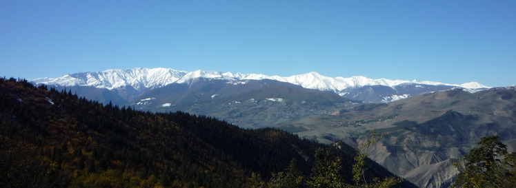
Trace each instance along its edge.
{"label": "clear blue cloudless sky above the snowy mountains", "polygon": [[516,84],[516,1],[0,2],[0,75],[113,68]]}

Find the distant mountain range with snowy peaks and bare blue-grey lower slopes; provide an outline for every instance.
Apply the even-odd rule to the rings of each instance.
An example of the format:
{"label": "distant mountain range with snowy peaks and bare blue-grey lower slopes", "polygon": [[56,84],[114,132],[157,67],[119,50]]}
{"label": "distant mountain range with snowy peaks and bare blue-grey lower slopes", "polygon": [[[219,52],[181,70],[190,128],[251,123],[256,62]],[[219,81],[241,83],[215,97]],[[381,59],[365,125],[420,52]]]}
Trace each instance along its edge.
{"label": "distant mountain range with snowy peaks and bare blue-grey lower slopes", "polygon": [[[186,72],[170,68],[132,68],[129,70],[106,70],[102,72],[80,72],[66,74],[59,78],[34,79],[32,83],[45,84],[53,87],[67,87],[78,89],[78,87],[95,87],[95,90],[88,90],[87,98],[99,100],[106,99],[123,105],[132,101],[141,94],[152,89],[163,87],[171,83],[186,83],[188,85],[195,81],[202,80],[224,80],[224,81],[248,81],[248,80],[274,80],[285,83],[300,85],[301,87],[320,91],[331,91],[358,101],[378,102],[397,101],[401,98],[415,96],[424,92],[435,92],[449,90],[454,87],[476,91],[490,88],[476,82],[464,83],[461,85],[439,83],[433,81],[402,81],[389,79],[368,79],[364,76],[328,77],[310,72],[295,76],[267,76],[264,74],[232,74],[231,72],[215,72],[197,70]],[[91,88],[90,88],[91,89]],[[107,92],[109,90],[114,93]]]}

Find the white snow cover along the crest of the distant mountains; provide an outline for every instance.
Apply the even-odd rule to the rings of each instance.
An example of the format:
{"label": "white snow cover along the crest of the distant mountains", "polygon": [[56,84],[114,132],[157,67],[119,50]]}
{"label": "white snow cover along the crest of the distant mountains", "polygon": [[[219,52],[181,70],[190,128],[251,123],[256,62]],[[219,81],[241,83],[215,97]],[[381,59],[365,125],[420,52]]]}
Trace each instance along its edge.
{"label": "white snow cover along the crest of the distant mountains", "polygon": [[[425,85],[451,85],[455,87],[463,87],[466,89],[477,90],[482,88],[490,88],[477,82],[464,83],[461,85],[438,83],[433,81],[402,81],[389,79],[368,79],[364,76],[344,77],[328,77],[318,74],[317,72],[309,72],[307,74],[299,74],[288,77],[267,76],[264,74],[232,74],[231,72],[216,72],[197,70],[194,72],[186,72],[183,70],[173,70],[171,68],[132,68],[128,70],[105,70],[102,72],[80,72],[76,74],[66,74],[59,78],[34,79],[32,82],[46,85],[60,86],[92,86],[97,88],[106,88],[114,90],[121,87],[131,86],[136,90],[153,89],[162,87],[170,83],[191,83],[195,79],[221,79],[228,81],[244,81],[244,80],[261,80],[271,79],[301,85],[308,89],[321,91],[333,91],[336,93],[345,90],[348,87],[361,87],[366,85],[384,85],[393,87],[402,83],[417,83]],[[245,84],[245,82],[240,83]]]}

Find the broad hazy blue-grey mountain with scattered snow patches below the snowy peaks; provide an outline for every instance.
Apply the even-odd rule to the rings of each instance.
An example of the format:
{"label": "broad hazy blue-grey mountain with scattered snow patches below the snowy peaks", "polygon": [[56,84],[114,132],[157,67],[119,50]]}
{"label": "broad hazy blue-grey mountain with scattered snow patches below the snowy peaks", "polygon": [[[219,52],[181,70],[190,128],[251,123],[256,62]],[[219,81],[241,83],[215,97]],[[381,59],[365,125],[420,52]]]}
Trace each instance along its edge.
{"label": "broad hazy blue-grey mountain with scattered snow patches below the snowy peaks", "polygon": [[199,79],[190,84],[172,83],[156,88],[128,105],[143,111],[204,114],[239,127],[259,128],[330,114],[351,103],[334,92],[268,79]]}

